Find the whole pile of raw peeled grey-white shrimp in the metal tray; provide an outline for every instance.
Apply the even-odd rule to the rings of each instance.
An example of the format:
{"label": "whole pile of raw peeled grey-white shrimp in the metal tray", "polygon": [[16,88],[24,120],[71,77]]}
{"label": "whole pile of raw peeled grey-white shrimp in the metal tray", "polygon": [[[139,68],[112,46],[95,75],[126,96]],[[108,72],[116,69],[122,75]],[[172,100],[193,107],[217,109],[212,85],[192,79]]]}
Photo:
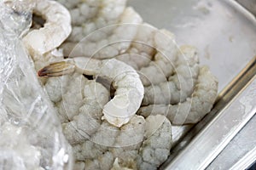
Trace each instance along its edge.
{"label": "whole pile of raw peeled grey-white shrimp in the metal tray", "polygon": [[45,23],[23,42],[73,146],[74,169],[160,167],[172,125],[201,121],[218,93],[196,48],[178,47],[125,0],[34,1]]}

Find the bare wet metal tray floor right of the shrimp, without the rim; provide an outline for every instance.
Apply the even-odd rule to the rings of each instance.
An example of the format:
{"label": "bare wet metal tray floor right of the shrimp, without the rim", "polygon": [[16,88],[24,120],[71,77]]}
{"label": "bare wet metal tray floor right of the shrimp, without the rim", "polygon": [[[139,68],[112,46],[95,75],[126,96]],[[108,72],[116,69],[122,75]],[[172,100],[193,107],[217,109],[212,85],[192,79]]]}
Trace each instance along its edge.
{"label": "bare wet metal tray floor right of the shrimp, without the rim", "polygon": [[201,64],[218,77],[219,91],[256,55],[256,22],[229,0],[130,0],[143,20],[200,51]]}

